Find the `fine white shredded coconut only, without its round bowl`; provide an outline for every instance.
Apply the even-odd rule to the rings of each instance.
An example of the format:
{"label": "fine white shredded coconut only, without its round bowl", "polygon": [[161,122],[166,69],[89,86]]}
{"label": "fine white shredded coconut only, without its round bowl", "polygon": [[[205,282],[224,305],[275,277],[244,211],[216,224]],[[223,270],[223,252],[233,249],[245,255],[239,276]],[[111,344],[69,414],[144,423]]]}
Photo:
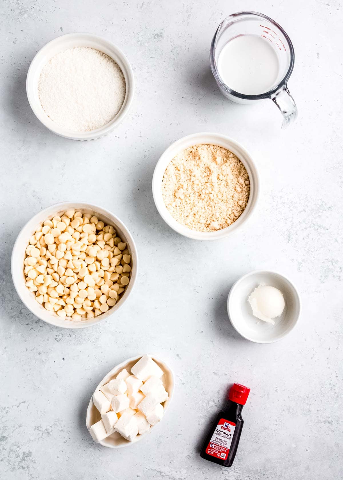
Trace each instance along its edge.
{"label": "fine white shredded coconut only, without its round bowl", "polygon": [[77,132],[109,123],[121,109],[125,91],[118,64],[88,47],[70,48],[52,57],[38,82],[45,113],[61,127]]}

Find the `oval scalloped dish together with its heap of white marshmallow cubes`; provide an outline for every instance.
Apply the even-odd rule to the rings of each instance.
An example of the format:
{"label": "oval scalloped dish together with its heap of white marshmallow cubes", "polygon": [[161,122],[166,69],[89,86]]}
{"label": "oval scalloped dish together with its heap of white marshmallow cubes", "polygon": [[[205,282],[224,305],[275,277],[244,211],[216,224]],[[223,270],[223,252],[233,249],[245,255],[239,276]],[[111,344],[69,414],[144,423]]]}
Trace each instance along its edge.
{"label": "oval scalloped dish together with its heap of white marshmallow cubes", "polygon": [[132,445],[163,418],[174,389],[170,368],[151,355],[114,367],[89,401],[86,426],[93,440],[109,448]]}

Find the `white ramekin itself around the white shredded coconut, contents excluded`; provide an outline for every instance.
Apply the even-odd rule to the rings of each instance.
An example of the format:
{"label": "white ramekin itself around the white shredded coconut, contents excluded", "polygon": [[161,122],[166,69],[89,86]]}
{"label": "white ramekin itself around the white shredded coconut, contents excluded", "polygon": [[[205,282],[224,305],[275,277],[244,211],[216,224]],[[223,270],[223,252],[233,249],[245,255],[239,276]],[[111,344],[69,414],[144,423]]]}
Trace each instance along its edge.
{"label": "white ramekin itself around the white shredded coconut, contents excluded", "polygon": [[[49,119],[48,115],[43,110],[38,96],[38,81],[40,73],[46,63],[54,56],[63,50],[74,47],[89,47],[95,48],[103,53],[106,53],[110,58],[116,61],[122,70],[126,83],[126,94],[122,108],[118,114],[109,123],[97,130],[90,132],[73,132],[65,129],[57,123]],[[30,68],[26,77],[26,93],[29,104],[36,115],[51,132],[60,135],[61,137],[69,138],[71,140],[95,140],[103,137],[115,129],[119,123],[126,117],[129,112],[135,92],[135,79],[132,72],[129,60],[123,54],[122,50],[116,47],[112,42],[101,36],[92,35],[89,33],[70,33],[61,35],[51,40],[43,48],[41,48],[35,58],[32,60]]]}

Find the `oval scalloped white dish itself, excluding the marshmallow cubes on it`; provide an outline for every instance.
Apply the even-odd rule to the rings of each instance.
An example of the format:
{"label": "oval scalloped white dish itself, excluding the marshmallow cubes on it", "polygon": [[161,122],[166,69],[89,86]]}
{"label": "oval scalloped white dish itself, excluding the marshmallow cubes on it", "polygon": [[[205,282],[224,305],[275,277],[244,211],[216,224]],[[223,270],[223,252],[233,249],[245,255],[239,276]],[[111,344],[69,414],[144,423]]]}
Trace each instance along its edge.
{"label": "oval scalloped white dish itself, excluding the marshmallow cubes on it", "polygon": [[[129,360],[125,360],[122,362],[120,365],[117,365],[114,367],[98,384],[97,388],[95,391],[98,391],[102,385],[105,385],[110,382],[110,380],[113,380],[118,373],[123,369],[126,368],[126,370],[130,371],[131,368],[135,365],[135,363],[142,357],[142,355],[139,355],[138,357],[133,357]],[[163,381],[164,388],[167,390],[169,393],[169,399],[163,402],[163,407],[164,411],[168,408],[170,401],[172,399],[172,394],[174,391],[174,376],[172,373],[172,370],[161,360],[157,359],[156,357],[152,356],[152,359],[156,361],[156,363],[159,365],[159,367],[163,370],[164,375],[162,376],[161,380]],[[98,420],[101,420],[101,415],[96,407],[93,405],[93,400],[92,398],[89,400],[88,408],[87,408],[87,413],[86,413],[86,426],[87,429],[89,430],[90,427],[96,423]],[[164,416],[162,420],[159,422],[163,422]],[[159,423],[157,425],[159,425]],[[143,437],[145,437],[147,434],[150,432],[154,431],[157,427],[157,425],[152,425],[148,432],[142,433],[142,435],[137,435],[135,439],[130,442],[128,440],[125,440],[125,438],[122,437],[122,435],[118,432],[112,433],[112,435],[106,437],[104,440],[99,442],[100,445],[103,445],[104,447],[109,447],[109,448],[121,448],[121,447],[128,447],[132,444],[135,444],[139,440],[142,440]]]}

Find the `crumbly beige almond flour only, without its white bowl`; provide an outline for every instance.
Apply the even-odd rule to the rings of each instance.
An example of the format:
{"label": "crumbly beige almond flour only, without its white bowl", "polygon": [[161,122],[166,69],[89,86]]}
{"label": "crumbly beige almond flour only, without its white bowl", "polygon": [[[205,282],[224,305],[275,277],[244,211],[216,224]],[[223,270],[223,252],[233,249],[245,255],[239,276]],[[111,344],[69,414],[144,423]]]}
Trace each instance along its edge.
{"label": "crumbly beige almond flour only, without its white bowl", "polygon": [[243,213],[250,182],[243,163],[218,145],[194,145],[174,156],[162,180],[164,203],[179,223],[208,232]]}

